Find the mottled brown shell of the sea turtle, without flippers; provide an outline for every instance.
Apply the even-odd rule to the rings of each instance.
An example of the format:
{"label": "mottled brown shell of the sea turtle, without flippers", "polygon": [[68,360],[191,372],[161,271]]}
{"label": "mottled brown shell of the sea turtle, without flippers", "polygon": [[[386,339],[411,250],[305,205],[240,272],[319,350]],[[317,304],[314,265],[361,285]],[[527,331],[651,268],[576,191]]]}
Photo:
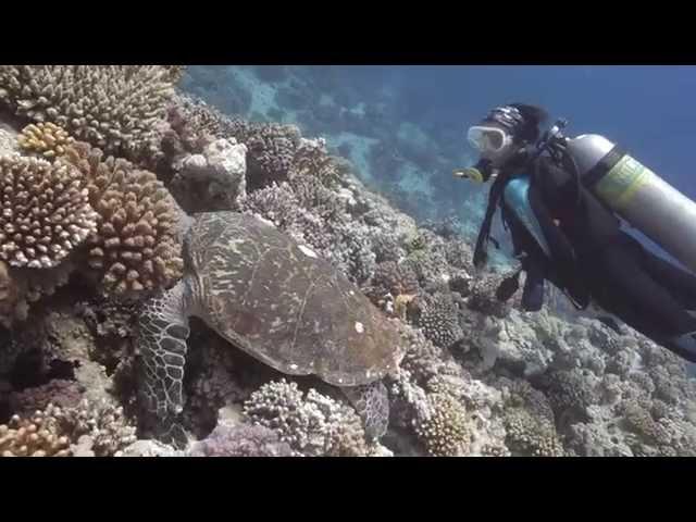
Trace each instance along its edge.
{"label": "mottled brown shell of the sea turtle, without flippers", "polygon": [[198,214],[186,241],[194,312],[235,346],[291,375],[356,386],[394,371],[400,337],[340,271],[273,225]]}

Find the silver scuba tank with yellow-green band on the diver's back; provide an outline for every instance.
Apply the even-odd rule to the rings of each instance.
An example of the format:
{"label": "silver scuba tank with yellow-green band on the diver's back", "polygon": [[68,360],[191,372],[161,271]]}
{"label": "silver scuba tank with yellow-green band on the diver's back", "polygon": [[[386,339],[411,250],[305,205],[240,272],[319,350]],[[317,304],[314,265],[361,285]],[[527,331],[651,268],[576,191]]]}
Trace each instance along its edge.
{"label": "silver scuba tank with yellow-green band on the diver's back", "polygon": [[604,136],[563,138],[581,183],[634,228],[696,271],[696,203]]}

